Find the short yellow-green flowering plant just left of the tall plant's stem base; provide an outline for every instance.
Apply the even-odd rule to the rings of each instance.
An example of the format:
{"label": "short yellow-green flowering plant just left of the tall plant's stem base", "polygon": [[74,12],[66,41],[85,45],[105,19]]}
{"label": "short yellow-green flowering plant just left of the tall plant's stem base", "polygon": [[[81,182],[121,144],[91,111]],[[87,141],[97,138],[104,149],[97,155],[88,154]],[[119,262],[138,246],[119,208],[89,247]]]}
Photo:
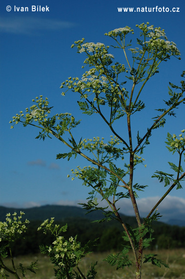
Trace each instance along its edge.
{"label": "short yellow-green flowering plant just left of the tall plant's stem base", "polygon": [[[81,243],[77,241],[77,236],[75,238],[71,236],[66,240],[60,234],[67,231],[67,225],[60,228],[59,225],[54,225],[53,222],[54,218],[51,218],[50,222],[47,219],[38,228],[38,230],[43,230],[45,234],[47,231],[50,231],[56,238],[50,246],[41,245],[41,253],[47,254],[54,266],[58,267],[58,269],[54,268],[56,278],[85,278],[78,264],[82,257],[90,253],[89,247],[90,245],[93,245],[93,243],[89,241],[84,247],[82,247]],[[87,271],[86,278],[95,277],[95,265],[96,263],[91,265],[91,269]],[[74,268],[77,268],[78,271],[74,271]]]}

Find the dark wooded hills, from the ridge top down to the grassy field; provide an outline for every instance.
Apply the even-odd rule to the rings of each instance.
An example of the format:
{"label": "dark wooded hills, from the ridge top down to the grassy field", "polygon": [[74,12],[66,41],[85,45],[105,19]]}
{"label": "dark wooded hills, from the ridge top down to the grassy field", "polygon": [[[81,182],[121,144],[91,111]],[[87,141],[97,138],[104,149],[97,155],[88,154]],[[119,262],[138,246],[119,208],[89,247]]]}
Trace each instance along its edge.
{"label": "dark wooded hills, from the ridge top down to the grassy field", "polygon": [[[50,205],[30,209],[0,207],[0,221],[5,221],[6,213],[12,214],[15,211],[18,214],[23,211],[24,218],[27,218],[30,224],[27,226],[25,237],[14,244],[14,255],[38,253],[41,243],[48,245],[52,243],[53,239],[50,234],[45,235],[42,231],[37,231],[42,221],[51,217],[55,217],[57,224],[62,226],[68,224],[68,230],[64,235],[66,238],[77,235],[82,245],[89,240],[99,238],[97,246],[93,247],[94,251],[119,251],[124,244],[123,227],[118,221],[93,222],[103,218],[103,214],[99,211],[85,214],[87,211],[80,207]],[[132,227],[137,226],[135,217],[126,215],[122,215],[122,217],[125,223]],[[156,247],[159,249],[185,247],[185,228],[170,226],[162,222],[154,222],[153,228],[154,240],[151,243],[151,249],[156,249]]]}

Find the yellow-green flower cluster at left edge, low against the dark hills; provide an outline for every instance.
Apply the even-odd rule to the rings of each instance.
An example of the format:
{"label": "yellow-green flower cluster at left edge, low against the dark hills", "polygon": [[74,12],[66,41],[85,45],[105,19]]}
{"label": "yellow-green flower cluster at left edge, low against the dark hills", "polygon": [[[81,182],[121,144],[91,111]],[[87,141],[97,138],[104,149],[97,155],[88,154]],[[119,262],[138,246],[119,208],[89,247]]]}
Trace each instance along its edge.
{"label": "yellow-green flower cluster at left edge, low against the dark hills", "polygon": [[14,242],[22,237],[22,233],[26,231],[26,224],[29,223],[27,219],[21,221],[22,215],[22,211],[18,217],[16,212],[12,214],[12,218],[10,213],[6,214],[6,222],[0,222],[0,241]]}

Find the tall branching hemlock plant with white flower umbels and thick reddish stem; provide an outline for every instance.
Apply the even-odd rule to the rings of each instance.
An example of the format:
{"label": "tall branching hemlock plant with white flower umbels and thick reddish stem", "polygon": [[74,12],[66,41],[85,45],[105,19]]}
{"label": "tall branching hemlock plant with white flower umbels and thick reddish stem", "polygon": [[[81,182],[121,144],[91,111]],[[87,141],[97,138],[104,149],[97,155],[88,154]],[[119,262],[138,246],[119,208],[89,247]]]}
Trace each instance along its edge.
{"label": "tall branching hemlock plant with white flower umbels and thick reddish stem", "polygon": [[[105,125],[110,129],[109,140],[100,137],[83,140],[75,138],[73,128],[76,128],[81,120],[75,120],[75,117],[69,113],[50,116],[52,107],[49,107],[48,99],[42,98],[42,95],[32,100],[34,105],[26,108],[25,115],[21,111],[20,114],[13,116],[10,123],[12,123],[11,128],[20,122],[23,123],[23,126],[32,125],[39,128],[37,139],[55,137],[60,140],[68,148],[66,148],[66,153],[58,154],[57,159],[70,160],[73,156],[75,158],[82,156],[88,161],[89,166],[78,166],[76,169],[72,169],[71,174],[68,175],[68,177],[72,176],[72,180],[78,177],[84,186],[91,187],[87,203],[82,206],[89,211],[102,210],[104,218],[100,221],[118,220],[123,226],[123,239],[127,241],[127,245],[123,249],[120,246],[122,249],[120,253],[109,255],[105,261],[115,265],[117,269],[135,264],[135,278],[141,279],[142,263],[151,262],[159,267],[162,264],[166,266],[156,258],[157,255],[143,255],[143,251],[152,240],[152,221],[160,217],[160,213],[157,213],[158,205],[174,187],[181,188],[181,182],[185,180],[182,166],[185,155],[184,127],[182,127],[179,137],[169,133],[167,135],[167,148],[170,152],[177,153],[179,159],[175,163],[169,162],[169,167],[173,170],[172,174],[164,171],[154,173],[153,177],[164,182],[164,186],[167,186],[168,189],[150,210],[144,221],[141,220],[136,198],[138,197],[137,192],[144,190],[146,186],[133,183],[135,168],[138,164],[144,164],[141,155],[149,144],[153,130],[163,127],[165,117],[175,116],[175,109],[185,103],[185,71],[181,75],[183,80],[179,86],[169,83],[168,100],[164,100],[163,108],[157,109],[158,113],[152,118],[151,126],[145,128],[145,133],[141,134],[138,131],[135,144],[131,120],[133,115],[139,114],[145,108],[142,99],[145,84],[150,78],[155,78],[153,76],[159,72],[159,66],[163,61],[166,62],[172,56],[180,59],[180,52],[175,43],[167,40],[164,30],[160,27],[154,27],[149,23],[142,23],[136,27],[139,28],[140,37],[137,38],[137,47],[134,48],[131,48],[131,41],[127,40],[128,35],[134,34],[133,29],[128,26],[105,34],[113,39],[115,45],[112,51],[118,48],[121,60],[123,56],[125,58],[125,64],[114,62],[114,55],[109,53],[109,46],[102,43],[86,43],[84,39],[75,42],[72,47],[77,47],[78,53],[86,55],[84,65],[89,69],[84,71],[82,78],[69,77],[61,85],[63,96],[67,91],[79,95],[78,105],[83,114],[91,117],[98,114],[103,119]],[[125,119],[126,125],[124,124]],[[117,122],[122,124],[123,129],[118,128]],[[119,125],[119,127],[121,126]],[[118,201],[125,198],[129,198],[132,203],[137,228],[126,224],[124,217],[120,215],[117,204]],[[99,202],[101,199],[106,201],[106,207],[101,206],[101,202]],[[50,248],[48,249],[50,250]],[[48,253],[55,251],[54,247],[51,249],[48,250]],[[129,260],[128,251],[130,249],[133,252],[135,263]],[[59,254],[59,256],[61,255]],[[63,264],[65,266],[64,261],[60,265],[60,278],[95,278],[96,276],[93,265],[91,277],[85,277],[81,273],[76,274],[76,277],[72,277],[72,275],[70,277],[69,274],[65,274],[66,266],[64,267]]]}

